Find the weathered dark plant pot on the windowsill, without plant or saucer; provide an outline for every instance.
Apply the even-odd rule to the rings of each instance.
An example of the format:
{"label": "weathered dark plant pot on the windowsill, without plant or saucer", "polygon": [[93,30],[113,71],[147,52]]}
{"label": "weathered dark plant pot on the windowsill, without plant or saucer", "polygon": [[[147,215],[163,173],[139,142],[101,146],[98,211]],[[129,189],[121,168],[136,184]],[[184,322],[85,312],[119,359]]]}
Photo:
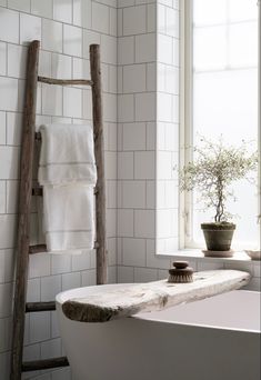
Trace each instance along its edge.
{"label": "weathered dark plant pot on the windowsill, without plant or saucer", "polygon": [[209,251],[230,251],[231,241],[235,230],[234,223],[202,223],[201,229]]}

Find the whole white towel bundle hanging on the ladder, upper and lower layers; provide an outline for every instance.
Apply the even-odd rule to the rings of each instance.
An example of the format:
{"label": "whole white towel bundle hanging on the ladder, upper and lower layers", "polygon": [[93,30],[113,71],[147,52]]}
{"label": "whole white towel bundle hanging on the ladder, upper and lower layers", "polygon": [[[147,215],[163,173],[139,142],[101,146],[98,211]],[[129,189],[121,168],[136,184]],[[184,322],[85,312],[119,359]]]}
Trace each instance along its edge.
{"label": "whole white towel bundle hanging on the ladder, upper and lower layers", "polygon": [[81,253],[94,246],[97,181],[91,126],[41,126],[39,183],[43,234],[51,253]]}

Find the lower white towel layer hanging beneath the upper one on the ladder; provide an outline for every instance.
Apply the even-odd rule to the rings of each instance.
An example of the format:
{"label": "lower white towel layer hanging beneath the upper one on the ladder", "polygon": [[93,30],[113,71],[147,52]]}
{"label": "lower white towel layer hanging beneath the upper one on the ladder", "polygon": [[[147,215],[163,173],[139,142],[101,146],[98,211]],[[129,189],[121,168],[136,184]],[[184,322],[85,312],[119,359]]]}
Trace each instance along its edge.
{"label": "lower white towel layer hanging beneath the upper one on the ladder", "polygon": [[93,198],[89,184],[43,187],[43,232],[49,252],[71,254],[93,249]]}

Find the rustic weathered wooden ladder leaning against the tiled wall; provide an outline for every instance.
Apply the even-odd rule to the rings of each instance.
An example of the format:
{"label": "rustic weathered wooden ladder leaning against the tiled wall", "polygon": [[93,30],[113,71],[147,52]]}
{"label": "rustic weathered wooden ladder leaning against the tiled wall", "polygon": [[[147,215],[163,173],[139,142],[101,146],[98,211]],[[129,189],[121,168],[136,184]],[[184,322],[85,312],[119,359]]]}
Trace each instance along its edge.
{"label": "rustic weathered wooden ladder leaning against the tiled wall", "polygon": [[11,351],[10,380],[20,380],[26,371],[43,370],[69,366],[66,357],[51,358],[22,362],[23,334],[26,312],[50,311],[56,309],[56,302],[27,303],[27,282],[29,254],[46,252],[43,244],[30,246],[30,203],[32,196],[42,196],[42,189],[32,186],[34,140],[39,140],[36,133],[36,104],[37,83],[72,86],[86,84],[92,89],[92,113],[94,154],[97,161],[98,181],[96,187],[96,228],[97,228],[97,283],[107,282],[107,249],[106,249],[106,180],[104,180],[104,153],[103,153],[103,127],[102,127],[102,99],[101,99],[101,72],[100,47],[90,46],[91,80],[86,79],[51,79],[38,76],[40,42],[32,41],[28,50],[27,84],[23,113],[23,136],[21,150],[18,243],[16,262],[16,288],[13,303],[13,332]]}

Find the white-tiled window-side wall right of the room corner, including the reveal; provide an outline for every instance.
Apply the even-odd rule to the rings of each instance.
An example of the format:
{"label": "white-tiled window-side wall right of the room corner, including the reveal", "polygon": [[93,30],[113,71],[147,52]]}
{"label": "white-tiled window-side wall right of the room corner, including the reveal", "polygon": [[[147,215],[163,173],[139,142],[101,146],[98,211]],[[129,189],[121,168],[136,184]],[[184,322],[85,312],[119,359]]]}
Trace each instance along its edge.
{"label": "white-tiled window-side wall right of the room corner, including the reveal", "polygon": [[[119,0],[118,7],[118,282],[167,278],[174,260],[187,259],[194,270],[247,270],[252,274],[248,289],[260,291],[258,261],[178,256],[180,1]],[[128,12],[138,20],[132,20],[131,30],[130,18],[124,18]],[[150,26],[155,22],[153,31],[148,29],[148,17],[152,17]],[[147,40],[147,71],[137,54],[141,38]],[[149,39],[155,43],[153,54]],[[148,83],[151,60],[155,98]],[[124,79],[129,67],[131,74]],[[145,114],[149,99],[151,113]]]}

